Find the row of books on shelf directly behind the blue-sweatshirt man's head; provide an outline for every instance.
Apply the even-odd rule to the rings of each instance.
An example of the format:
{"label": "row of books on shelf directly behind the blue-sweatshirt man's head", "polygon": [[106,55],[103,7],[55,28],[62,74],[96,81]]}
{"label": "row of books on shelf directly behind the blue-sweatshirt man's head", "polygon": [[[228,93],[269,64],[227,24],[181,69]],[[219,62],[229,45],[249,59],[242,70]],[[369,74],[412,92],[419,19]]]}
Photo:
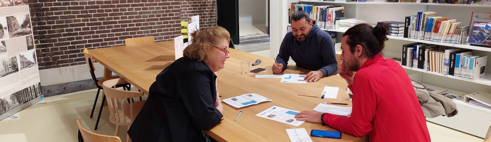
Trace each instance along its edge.
{"label": "row of books on shelf directly behind the blue-sweatshirt man's head", "polygon": [[291,19],[292,13],[298,10],[303,10],[307,12],[310,19],[317,22],[317,26],[319,28],[334,29],[334,23],[336,22],[336,20],[340,20],[344,17],[343,6],[318,6],[301,4],[300,2],[292,2],[290,3],[289,19]]}

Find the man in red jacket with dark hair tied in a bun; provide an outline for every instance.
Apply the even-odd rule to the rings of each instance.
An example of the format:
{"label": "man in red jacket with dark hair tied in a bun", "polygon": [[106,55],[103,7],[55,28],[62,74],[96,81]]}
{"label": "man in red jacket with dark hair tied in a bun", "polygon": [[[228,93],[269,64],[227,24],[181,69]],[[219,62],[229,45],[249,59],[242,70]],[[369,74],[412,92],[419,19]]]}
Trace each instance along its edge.
{"label": "man in red jacket with dark hair tied in a bun", "polygon": [[[339,75],[353,92],[351,117],[303,111],[297,120],[323,123],[370,142],[430,142],[426,120],[404,69],[380,52],[388,25],[358,24],[341,40]],[[354,71],[357,71],[356,74]]]}

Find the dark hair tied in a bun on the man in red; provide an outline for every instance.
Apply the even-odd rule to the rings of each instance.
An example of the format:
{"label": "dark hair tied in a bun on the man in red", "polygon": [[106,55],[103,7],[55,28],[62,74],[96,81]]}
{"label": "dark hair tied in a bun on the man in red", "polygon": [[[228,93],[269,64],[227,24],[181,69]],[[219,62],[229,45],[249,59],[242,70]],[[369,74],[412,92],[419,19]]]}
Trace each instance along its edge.
{"label": "dark hair tied in a bun on the man in red", "polygon": [[369,24],[357,24],[348,29],[344,34],[348,38],[346,43],[350,46],[350,51],[354,52],[356,45],[363,47],[363,51],[367,58],[373,58],[378,53],[382,52],[384,43],[387,38],[389,25],[386,23],[378,23],[375,27]]}

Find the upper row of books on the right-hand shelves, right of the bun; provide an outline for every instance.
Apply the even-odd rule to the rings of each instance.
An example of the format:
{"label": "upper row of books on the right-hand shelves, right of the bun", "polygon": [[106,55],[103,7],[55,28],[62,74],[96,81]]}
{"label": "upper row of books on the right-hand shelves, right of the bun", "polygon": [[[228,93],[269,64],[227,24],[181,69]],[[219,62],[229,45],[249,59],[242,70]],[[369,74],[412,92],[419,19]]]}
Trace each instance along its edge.
{"label": "upper row of books on the right-hand shelves, right of the bun", "polygon": [[407,16],[405,20],[405,38],[433,41],[439,43],[466,43],[468,25],[462,25],[456,19],[437,16],[433,11],[420,11],[417,15]]}

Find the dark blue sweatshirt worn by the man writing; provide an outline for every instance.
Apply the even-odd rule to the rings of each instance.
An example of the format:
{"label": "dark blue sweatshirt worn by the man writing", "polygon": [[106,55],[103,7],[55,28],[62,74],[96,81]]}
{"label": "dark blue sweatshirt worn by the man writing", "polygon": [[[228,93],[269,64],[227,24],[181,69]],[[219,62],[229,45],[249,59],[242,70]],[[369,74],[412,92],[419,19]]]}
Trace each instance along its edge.
{"label": "dark blue sweatshirt worn by the man writing", "polygon": [[324,76],[337,72],[337,61],[331,36],[326,31],[319,29],[315,21],[304,41],[298,41],[292,32],[287,33],[283,38],[276,57],[276,62],[283,64],[283,71],[288,65],[290,56],[300,68],[321,70]]}

